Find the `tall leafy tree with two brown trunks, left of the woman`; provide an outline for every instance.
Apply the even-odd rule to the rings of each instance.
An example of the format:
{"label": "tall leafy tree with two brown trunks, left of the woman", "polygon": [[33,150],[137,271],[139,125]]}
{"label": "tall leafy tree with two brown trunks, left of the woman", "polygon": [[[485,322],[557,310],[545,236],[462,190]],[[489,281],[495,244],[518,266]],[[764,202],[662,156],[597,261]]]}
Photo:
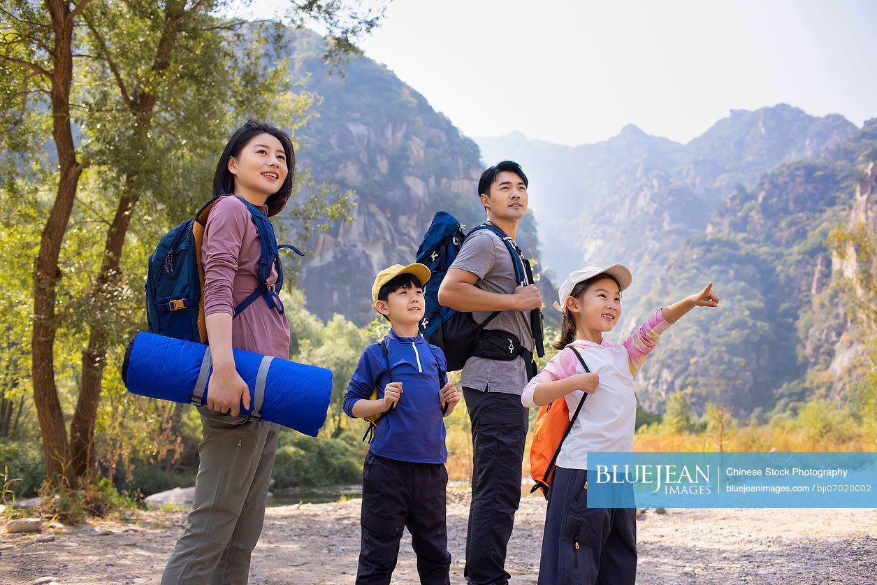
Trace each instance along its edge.
{"label": "tall leafy tree with two brown trunks, left of the woman", "polygon": [[[121,278],[120,259],[136,204],[150,197],[149,215],[165,220],[149,227],[178,220],[173,210],[187,209],[184,203],[203,193],[210,164],[204,161],[212,160],[217,139],[240,118],[272,114],[294,129],[313,99],[301,91],[296,95],[276,65],[270,50],[277,48],[271,42],[279,38],[276,27],[242,28],[241,21],[223,16],[228,7],[203,0],[43,5],[17,0],[0,10],[0,82],[4,89],[21,86],[4,91],[0,120],[19,129],[27,126],[21,121],[27,117],[19,120],[14,111],[46,112],[42,121],[51,128],[58,163],[57,189],[33,265],[31,374],[47,473],[63,475],[71,487],[93,459],[107,347],[115,340],[111,325],[118,328],[118,303],[131,290]],[[296,25],[309,20],[326,25],[338,40],[336,54],[352,50],[355,35],[368,32],[378,18],[337,2],[291,4],[289,15]],[[11,141],[4,150],[32,149],[50,136],[33,132],[29,138],[30,146]],[[71,303],[91,318],[68,442],[55,369],[63,321],[59,287],[66,284],[59,259],[88,167],[96,169],[96,192],[114,211],[103,218],[103,253],[91,265],[99,267],[97,273]],[[95,202],[81,197],[80,203]]]}

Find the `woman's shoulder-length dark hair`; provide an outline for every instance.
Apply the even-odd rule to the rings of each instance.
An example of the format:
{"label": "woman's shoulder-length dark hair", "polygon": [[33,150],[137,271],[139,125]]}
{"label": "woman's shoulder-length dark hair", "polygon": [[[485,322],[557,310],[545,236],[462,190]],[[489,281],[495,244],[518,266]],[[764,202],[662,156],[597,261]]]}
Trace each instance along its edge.
{"label": "woman's shoulder-length dark hair", "polygon": [[271,196],[268,196],[265,204],[268,206],[268,217],[277,215],[289,201],[292,194],[292,185],[295,182],[296,175],[296,152],[292,147],[292,139],[289,134],[283,132],[280,128],[275,128],[265,122],[257,122],[256,120],[247,120],[245,125],[240,126],[232,134],[232,138],[228,139],[225,150],[219,157],[217,171],[213,175],[213,196],[226,195],[234,191],[234,175],[228,170],[229,157],[239,157],[240,151],[244,149],[253,137],[260,134],[271,134],[275,139],[280,140],[283,146],[283,152],[286,153],[286,168],[288,173],[286,180],[283,181],[280,189]]}

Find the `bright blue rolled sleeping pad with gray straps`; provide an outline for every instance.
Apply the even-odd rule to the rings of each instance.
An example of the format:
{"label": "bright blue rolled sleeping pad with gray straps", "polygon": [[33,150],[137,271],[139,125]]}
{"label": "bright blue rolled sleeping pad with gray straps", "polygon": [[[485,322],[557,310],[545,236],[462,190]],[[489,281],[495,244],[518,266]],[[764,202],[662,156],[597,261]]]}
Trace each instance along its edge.
{"label": "bright blue rolled sleeping pad with gray straps", "polygon": [[[250,409],[240,414],[282,424],[316,437],[329,410],[332,372],[269,355],[232,350],[238,374],[250,388]],[[207,403],[210,347],[139,332],[125,350],[122,381],[132,394],[175,403]]]}

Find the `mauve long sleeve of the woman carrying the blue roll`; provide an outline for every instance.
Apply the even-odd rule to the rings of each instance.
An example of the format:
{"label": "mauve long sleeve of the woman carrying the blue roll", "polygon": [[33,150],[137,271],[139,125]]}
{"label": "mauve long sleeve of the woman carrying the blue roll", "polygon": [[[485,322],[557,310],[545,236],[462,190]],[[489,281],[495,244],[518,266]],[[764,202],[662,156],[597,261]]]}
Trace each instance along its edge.
{"label": "mauve long sleeve of the woman carrying the blue roll", "polygon": [[235,197],[220,199],[210,210],[201,248],[204,315],[234,314],[234,275],[249,220],[246,206]]}

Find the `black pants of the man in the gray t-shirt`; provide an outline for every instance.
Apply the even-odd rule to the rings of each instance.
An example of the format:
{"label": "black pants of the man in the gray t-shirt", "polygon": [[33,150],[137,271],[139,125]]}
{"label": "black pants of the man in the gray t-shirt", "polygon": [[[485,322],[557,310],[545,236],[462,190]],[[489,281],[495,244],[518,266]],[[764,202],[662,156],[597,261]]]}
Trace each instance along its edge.
{"label": "black pants of the man in the gray t-shirt", "polygon": [[508,583],[505,553],[521,502],[529,412],[521,396],[463,389],[472,421],[472,505],[464,576],[471,585]]}

